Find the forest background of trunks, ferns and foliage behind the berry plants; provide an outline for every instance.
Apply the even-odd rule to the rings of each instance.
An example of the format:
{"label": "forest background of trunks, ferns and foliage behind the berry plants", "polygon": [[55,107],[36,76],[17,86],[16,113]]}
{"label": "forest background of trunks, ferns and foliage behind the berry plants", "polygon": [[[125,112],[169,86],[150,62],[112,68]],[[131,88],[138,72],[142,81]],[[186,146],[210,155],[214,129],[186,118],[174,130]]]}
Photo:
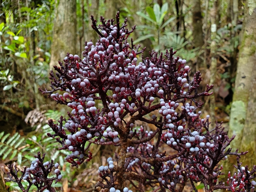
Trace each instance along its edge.
{"label": "forest background of trunks, ferns and foliage behind the berry plants", "polygon": [[[136,25],[135,43],[152,49],[177,50],[192,73],[200,70],[203,82],[214,84],[214,94],[203,100],[202,116],[223,122],[229,136],[236,135],[234,150],[251,151],[241,162],[256,164],[256,0],[1,0],[0,3],[0,191],[6,191],[7,164],[29,165],[37,151],[57,159],[63,169],[63,192],[94,189],[98,167],[113,156],[110,146],[91,145],[95,156],[78,169],[65,162],[64,150],[53,138],[47,121],[67,116],[38,88],[49,87],[49,71],[67,52],[82,57],[84,42],[95,43],[91,15],[99,20],[128,18]],[[141,59],[141,58],[138,58]],[[48,88],[49,89],[49,88]],[[205,99],[205,98],[201,98]],[[97,103],[97,105],[102,105]],[[136,125],[140,126],[140,125]],[[154,127],[146,126],[147,130]],[[100,151],[100,152],[99,152]],[[99,152],[99,153],[98,153]],[[224,162],[231,169],[236,159]],[[85,169],[86,168],[86,169]],[[21,167],[20,167],[21,169]],[[9,191],[19,191],[6,182]],[[203,185],[198,185],[203,191]],[[186,189],[192,191],[191,188]]]}

